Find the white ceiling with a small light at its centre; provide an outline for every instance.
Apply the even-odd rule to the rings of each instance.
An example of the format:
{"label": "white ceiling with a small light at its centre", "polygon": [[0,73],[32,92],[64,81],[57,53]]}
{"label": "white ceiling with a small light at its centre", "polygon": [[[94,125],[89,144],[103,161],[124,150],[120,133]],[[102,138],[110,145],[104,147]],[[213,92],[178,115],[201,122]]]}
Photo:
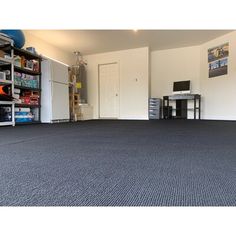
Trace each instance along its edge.
{"label": "white ceiling with a small light at its centre", "polygon": [[149,46],[150,50],[199,45],[230,30],[26,30],[69,53],[83,55]]}

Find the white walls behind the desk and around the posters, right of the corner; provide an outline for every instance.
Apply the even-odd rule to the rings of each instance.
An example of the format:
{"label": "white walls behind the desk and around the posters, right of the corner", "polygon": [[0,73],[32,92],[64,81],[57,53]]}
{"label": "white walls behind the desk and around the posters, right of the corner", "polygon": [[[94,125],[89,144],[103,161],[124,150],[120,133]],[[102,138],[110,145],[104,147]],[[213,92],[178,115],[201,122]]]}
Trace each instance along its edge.
{"label": "white walls behind the desk and around the posters, right of the corner", "polygon": [[[162,98],[172,93],[173,81],[190,79],[192,93],[202,96],[202,119],[236,120],[235,41],[236,32],[231,32],[199,46],[152,52],[151,96]],[[228,74],[208,78],[208,49],[227,42]]]}

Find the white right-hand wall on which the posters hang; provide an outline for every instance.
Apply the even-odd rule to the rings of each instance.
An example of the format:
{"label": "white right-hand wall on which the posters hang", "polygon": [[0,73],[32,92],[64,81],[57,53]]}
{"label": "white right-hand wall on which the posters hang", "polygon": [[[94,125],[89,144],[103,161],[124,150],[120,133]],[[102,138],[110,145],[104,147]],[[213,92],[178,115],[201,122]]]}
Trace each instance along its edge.
{"label": "white right-hand wall on which the posters hang", "polygon": [[[228,74],[208,78],[209,48],[229,42]],[[236,120],[236,32],[201,45],[202,118]]]}

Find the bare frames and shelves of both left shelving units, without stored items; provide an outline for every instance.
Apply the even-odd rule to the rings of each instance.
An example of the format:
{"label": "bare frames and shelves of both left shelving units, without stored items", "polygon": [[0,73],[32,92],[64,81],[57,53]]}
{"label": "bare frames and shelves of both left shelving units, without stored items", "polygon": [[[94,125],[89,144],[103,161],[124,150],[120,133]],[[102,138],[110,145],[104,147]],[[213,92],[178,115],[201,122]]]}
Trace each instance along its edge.
{"label": "bare frames and shelves of both left shelving units, without stored items", "polygon": [[[13,97],[14,97],[14,89],[20,89],[20,92],[21,92],[20,96],[22,95],[23,92],[26,92],[26,91],[31,91],[32,93],[39,94],[38,104],[24,104],[24,103],[16,103],[16,101],[5,101],[5,100],[2,101],[0,98],[0,107],[7,107],[7,109],[9,109],[8,107],[11,107],[11,120],[5,121],[5,116],[4,117],[0,116],[0,126],[4,126],[4,125],[14,126],[15,124],[40,123],[41,122],[41,61],[42,61],[41,56],[31,53],[24,49],[19,49],[19,48],[14,47],[13,40],[1,34],[0,34],[0,52],[4,52],[4,56],[0,55],[0,70],[10,71],[10,79],[0,78],[0,85],[10,85],[11,93]],[[5,54],[7,54],[8,56],[5,56]],[[25,60],[28,60],[28,61],[31,61],[31,60],[37,61],[38,70],[35,71],[29,66],[27,67],[22,66],[22,64],[20,66],[15,65],[14,56],[23,57]],[[38,86],[37,87],[30,86],[31,84],[27,86],[28,85],[27,83],[22,83],[21,85],[20,83],[18,84],[15,83],[14,72],[37,77],[36,79],[38,81]],[[30,112],[34,114],[34,119],[32,121],[15,122],[15,110],[16,110],[15,107],[17,108],[17,110],[19,110],[19,108],[30,108]],[[4,111],[4,109],[5,108],[3,108],[2,110]],[[5,114],[5,113],[2,113],[2,114]]]}

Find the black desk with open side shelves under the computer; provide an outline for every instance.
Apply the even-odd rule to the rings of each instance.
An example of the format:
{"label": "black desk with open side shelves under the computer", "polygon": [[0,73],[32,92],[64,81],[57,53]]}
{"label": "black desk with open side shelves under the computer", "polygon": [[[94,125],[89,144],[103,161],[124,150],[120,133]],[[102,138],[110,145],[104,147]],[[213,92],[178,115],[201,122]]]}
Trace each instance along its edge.
{"label": "black desk with open side shelves under the computer", "polygon": [[[163,118],[169,119],[170,114],[170,101],[176,101],[176,114],[178,116],[176,118],[187,119],[187,111],[190,110],[187,107],[188,100],[193,100],[194,107],[194,119],[197,117],[198,111],[198,119],[201,119],[201,95],[200,94],[175,94],[163,97],[163,111],[166,109],[166,115],[163,112]],[[197,106],[198,103],[198,106]]]}

